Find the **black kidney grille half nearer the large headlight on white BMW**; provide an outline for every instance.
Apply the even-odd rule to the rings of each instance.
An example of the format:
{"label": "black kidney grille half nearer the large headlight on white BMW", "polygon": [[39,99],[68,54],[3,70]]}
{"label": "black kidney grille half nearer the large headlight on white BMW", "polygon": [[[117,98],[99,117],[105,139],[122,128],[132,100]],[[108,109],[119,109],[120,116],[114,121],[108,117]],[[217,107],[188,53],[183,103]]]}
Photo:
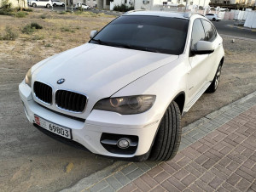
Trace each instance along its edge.
{"label": "black kidney grille half nearer the large headlight on white BMW", "polygon": [[86,96],[80,93],[74,93],[66,90],[58,90],[55,93],[55,103],[64,110],[73,112],[84,111],[87,102]]}

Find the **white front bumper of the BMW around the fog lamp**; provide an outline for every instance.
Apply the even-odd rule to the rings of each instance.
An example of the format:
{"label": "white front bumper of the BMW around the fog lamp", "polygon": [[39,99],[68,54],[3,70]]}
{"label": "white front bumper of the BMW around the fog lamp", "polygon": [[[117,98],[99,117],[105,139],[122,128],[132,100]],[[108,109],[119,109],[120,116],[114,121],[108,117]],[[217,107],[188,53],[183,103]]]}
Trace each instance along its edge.
{"label": "white front bumper of the BMW around the fog lamp", "polygon": [[[146,118],[146,113],[121,116],[102,110],[92,110],[90,115],[86,119],[84,118],[84,121],[78,121],[63,116],[59,112],[49,110],[35,102],[32,99],[32,89],[24,81],[20,83],[19,93],[28,121],[34,124],[34,115],[38,115],[47,121],[70,128],[72,130],[73,141],[82,144],[90,152],[98,155],[132,158],[146,154],[153,143],[154,135],[160,123],[159,118],[154,120]],[[73,114],[73,116],[76,116],[76,114]],[[130,155],[109,152],[101,144],[102,133],[121,134],[128,137],[129,135],[137,136],[137,150]]]}

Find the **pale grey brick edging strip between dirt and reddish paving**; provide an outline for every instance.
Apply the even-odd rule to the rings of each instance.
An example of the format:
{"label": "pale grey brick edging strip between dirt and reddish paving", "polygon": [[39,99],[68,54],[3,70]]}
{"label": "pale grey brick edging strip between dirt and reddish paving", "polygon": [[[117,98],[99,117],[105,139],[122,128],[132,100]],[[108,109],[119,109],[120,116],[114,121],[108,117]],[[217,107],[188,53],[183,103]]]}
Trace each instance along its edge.
{"label": "pale grey brick edging strip between dirt and reddish paving", "polygon": [[[189,124],[189,126],[183,127],[179,151],[239,116],[254,104],[256,104],[256,91],[213,111],[200,120]],[[154,161],[130,163],[117,161],[112,166],[93,173],[89,177],[80,180],[73,187],[62,191],[118,191],[160,163]]]}

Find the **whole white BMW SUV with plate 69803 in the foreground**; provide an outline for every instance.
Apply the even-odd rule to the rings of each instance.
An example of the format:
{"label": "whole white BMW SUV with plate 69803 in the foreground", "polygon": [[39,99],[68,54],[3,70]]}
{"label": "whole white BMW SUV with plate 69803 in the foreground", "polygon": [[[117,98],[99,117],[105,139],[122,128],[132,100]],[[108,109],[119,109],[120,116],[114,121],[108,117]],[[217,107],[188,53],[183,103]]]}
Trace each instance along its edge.
{"label": "whole white BMW SUV with plate 69803 in the foreground", "polygon": [[181,116],[218,88],[224,48],[214,25],[200,14],[137,11],[90,37],[27,72],[27,119],[96,154],[172,159]]}

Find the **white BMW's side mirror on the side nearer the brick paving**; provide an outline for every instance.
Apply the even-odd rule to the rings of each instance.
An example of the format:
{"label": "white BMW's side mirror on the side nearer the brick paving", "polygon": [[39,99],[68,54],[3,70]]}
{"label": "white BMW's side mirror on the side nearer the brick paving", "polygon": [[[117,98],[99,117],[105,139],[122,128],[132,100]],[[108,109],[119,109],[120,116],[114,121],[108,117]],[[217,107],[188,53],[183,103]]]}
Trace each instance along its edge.
{"label": "white BMW's side mirror on the side nearer the brick paving", "polygon": [[191,54],[212,54],[214,46],[212,42],[199,41],[195,44],[195,49],[191,50]]}

